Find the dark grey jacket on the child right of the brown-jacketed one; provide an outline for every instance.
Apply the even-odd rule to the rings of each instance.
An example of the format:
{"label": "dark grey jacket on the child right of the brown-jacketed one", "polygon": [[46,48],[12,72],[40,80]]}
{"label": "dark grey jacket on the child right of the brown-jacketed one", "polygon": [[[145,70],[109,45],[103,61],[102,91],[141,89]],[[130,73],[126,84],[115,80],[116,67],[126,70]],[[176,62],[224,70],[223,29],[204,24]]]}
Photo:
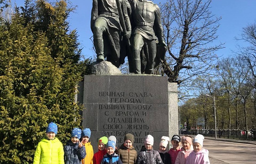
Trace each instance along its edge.
{"label": "dark grey jacket on the child right of the brown-jacketed one", "polygon": [[140,152],[138,153],[135,164],[163,164],[163,163],[158,151],[155,151],[153,149],[147,150],[145,146],[142,146]]}

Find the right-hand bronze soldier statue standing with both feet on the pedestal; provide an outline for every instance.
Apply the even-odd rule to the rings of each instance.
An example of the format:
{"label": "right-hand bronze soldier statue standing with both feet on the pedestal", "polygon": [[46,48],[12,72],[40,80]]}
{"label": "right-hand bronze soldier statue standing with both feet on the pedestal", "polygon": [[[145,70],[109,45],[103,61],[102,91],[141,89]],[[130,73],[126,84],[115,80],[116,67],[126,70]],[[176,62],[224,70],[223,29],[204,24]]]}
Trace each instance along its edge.
{"label": "right-hand bronze soldier statue standing with both feet on the pedestal", "polygon": [[[148,0],[128,0],[132,9],[131,47],[133,63],[130,72],[154,74],[155,59],[158,46],[160,56],[166,52],[166,45],[161,25],[161,15],[158,5]],[[159,64],[159,62],[158,62]]]}

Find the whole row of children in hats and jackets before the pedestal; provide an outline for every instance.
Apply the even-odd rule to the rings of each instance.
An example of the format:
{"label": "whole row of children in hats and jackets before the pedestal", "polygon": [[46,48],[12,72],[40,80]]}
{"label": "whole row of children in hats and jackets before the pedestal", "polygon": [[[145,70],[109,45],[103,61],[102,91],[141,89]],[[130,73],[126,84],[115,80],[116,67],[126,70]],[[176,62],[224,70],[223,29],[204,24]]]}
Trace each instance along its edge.
{"label": "whole row of children in hats and jackets before the pedestal", "polygon": [[116,137],[103,136],[98,140],[98,152],[94,154],[89,128],[74,128],[64,149],[55,137],[57,131],[57,125],[51,122],[46,137],[38,143],[33,164],[210,164],[208,150],[202,148],[204,137],[200,134],[194,137],[193,143],[191,136],[172,136],[169,151],[166,149],[169,137],[162,136],[159,149],[155,151],[154,138],[147,135],[139,153],[133,147],[134,136],[130,133],[124,136],[124,143],[119,149]]}

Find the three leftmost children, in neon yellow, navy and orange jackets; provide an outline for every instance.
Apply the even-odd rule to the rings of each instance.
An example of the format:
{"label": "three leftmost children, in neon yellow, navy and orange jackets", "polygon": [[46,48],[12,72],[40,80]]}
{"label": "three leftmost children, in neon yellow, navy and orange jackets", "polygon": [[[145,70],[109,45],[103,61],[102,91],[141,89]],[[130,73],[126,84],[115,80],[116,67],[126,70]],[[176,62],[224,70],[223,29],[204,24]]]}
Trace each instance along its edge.
{"label": "three leftmost children, in neon yellow, navy and orange jackets", "polygon": [[91,130],[74,128],[71,138],[63,148],[58,140],[58,127],[55,123],[48,124],[46,137],[37,145],[33,164],[92,164],[94,156],[92,145],[89,141]]}

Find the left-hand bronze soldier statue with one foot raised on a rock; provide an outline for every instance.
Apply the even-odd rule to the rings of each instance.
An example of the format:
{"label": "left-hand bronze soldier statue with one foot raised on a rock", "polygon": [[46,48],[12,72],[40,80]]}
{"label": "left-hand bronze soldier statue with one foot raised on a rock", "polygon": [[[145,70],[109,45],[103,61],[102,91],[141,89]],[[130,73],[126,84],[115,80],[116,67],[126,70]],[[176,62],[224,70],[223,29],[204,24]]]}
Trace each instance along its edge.
{"label": "left-hand bronze soldier statue with one foot raised on a rock", "polygon": [[[123,37],[130,38],[131,26],[124,0],[93,0],[91,30],[97,61],[107,58],[117,68],[120,62],[120,45]],[[124,57],[122,57],[124,59]]]}

